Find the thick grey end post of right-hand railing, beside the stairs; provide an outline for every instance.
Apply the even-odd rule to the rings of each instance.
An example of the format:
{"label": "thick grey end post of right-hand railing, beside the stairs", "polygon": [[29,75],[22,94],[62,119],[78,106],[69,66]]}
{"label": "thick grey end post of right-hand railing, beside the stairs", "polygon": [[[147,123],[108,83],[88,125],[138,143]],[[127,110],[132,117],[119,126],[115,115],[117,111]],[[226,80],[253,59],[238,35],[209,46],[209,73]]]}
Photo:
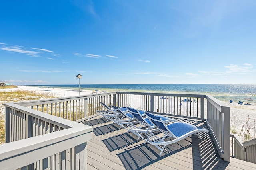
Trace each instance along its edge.
{"label": "thick grey end post of right-hand railing, beside the stairs", "polygon": [[222,145],[224,155],[222,158],[230,162],[230,107],[221,107],[222,112]]}

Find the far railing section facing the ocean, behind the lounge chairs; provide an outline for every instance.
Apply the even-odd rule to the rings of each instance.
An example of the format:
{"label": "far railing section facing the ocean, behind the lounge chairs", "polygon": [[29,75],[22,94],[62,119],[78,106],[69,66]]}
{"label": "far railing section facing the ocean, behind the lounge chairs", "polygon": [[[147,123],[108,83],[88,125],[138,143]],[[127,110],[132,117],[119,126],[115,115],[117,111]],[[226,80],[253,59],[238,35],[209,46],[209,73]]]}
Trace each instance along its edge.
{"label": "far railing section facing the ocean, behind the lounge chairs", "polygon": [[204,120],[204,95],[117,92],[119,107]]}

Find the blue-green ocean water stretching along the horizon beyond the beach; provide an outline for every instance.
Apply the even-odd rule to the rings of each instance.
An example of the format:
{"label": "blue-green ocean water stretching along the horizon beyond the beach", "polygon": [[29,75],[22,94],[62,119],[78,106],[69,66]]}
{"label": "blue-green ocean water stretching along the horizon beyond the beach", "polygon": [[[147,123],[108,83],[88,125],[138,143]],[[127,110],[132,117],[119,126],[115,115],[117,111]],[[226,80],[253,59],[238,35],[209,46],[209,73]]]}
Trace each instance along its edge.
{"label": "blue-green ocean water stretching along the horizon beyond the beach", "polygon": [[[78,89],[75,85],[32,85],[50,88]],[[80,84],[82,90],[162,92],[176,94],[210,94],[221,101],[256,104],[256,84]],[[251,98],[247,101],[245,98]]]}

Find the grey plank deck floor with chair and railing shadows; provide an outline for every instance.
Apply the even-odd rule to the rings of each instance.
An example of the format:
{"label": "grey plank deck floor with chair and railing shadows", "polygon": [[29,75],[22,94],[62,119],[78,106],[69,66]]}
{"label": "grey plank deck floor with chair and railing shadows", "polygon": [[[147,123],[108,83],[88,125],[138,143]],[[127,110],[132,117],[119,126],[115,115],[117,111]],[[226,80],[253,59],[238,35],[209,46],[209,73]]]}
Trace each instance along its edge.
{"label": "grey plank deck floor with chair and railing shadows", "polygon": [[[179,119],[194,125],[205,127],[200,121]],[[94,127],[93,139],[87,145],[88,170],[169,170],[169,169],[256,169],[256,164],[231,158],[226,162],[218,156],[209,134],[198,139],[191,135],[186,139],[166,146],[161,156],[156,147],[137,141],[133,133],[106,122],[100,116],[83,122]]]}

